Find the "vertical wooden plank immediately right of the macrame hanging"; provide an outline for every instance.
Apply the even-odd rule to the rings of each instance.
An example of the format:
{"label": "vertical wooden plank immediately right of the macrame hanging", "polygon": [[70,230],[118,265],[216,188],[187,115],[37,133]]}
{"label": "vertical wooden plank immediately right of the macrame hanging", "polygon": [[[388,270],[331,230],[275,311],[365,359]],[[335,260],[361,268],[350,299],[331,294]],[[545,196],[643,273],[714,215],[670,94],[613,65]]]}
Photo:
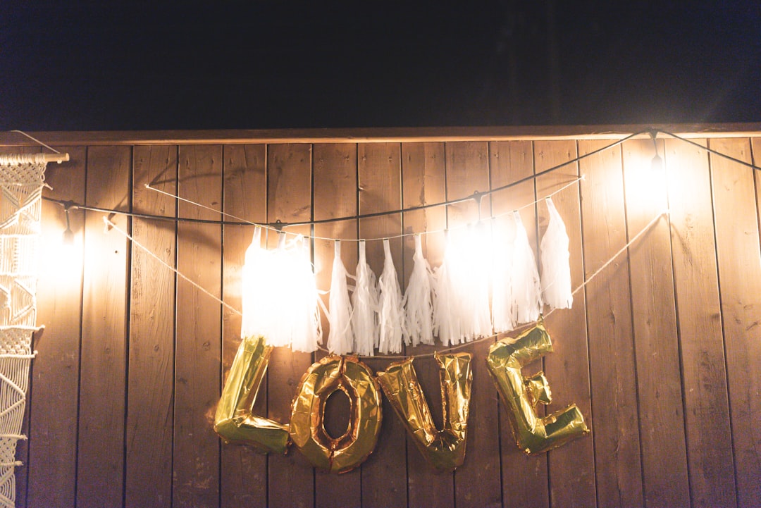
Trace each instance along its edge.
{"label": "vertical wooden plank immediately right of the macrame hanging", "polygon": [[[71,160],[48,166],[45,180],[53,189],[43,194],[83,203],[87,149],[57,149],[68,152]],[[75,246],[70,249],[71,256],[62,257],[66,228],[63,207],[43,202],[37,322],[46,325],[46,331],[34,344],[37,357],[32,362],[29,401],[33,425],[29,460],[24,463],[29,488],[24,498],[21,478],[17,478],[17,506],[75,506],[84,212],[70,211],[69,221]]]}

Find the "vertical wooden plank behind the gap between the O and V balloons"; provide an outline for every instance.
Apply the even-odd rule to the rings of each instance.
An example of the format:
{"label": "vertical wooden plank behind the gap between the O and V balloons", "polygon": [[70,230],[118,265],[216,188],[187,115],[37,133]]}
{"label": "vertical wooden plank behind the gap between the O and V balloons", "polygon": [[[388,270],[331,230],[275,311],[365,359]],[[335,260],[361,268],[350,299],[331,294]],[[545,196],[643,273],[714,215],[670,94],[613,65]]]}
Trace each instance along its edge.
{"label": "vertical wooden plank behind the gap between the O and V balloons", "polygon": [[[399,143],[361,143],[357,148],[359,213],[397,210],[402,205],[401,147]],[[384,237],[402,232],[401,214],[361,219],[359,237],[368,239],[368,264],[380,278]],[[402,242],[390,241],[397,275],[403,273]],[[400,277],[401,284],[401,277]],[[369,360],[373,372],[384,370],[388,360]],[[406,436],[387,398],[383,399],[383,424],[375,451],[362,465],[362,506],[407,506]]]}

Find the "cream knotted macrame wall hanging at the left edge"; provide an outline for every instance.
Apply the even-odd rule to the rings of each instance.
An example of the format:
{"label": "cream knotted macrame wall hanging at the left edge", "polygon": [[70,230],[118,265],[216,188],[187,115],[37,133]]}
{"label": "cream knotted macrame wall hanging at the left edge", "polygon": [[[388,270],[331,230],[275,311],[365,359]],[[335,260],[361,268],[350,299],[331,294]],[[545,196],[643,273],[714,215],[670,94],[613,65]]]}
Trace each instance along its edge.
{"label": "cream knotted macrame wall hanging at the left edge", "polygon": [[0,506],[12,507],[16,443],[37,328],[40,211],[46,155],[0,156]]}

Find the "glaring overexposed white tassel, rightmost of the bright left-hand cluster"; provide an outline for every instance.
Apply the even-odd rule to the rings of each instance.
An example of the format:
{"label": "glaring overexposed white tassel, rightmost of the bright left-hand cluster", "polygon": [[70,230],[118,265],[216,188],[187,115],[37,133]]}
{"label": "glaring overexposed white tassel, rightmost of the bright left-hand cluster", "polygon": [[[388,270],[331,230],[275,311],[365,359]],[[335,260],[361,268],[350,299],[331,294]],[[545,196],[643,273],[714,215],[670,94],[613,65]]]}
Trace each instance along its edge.
{"label": "glaring overexposed white tassel, rightmost of the bright left-hand cluster", "polygon": [[[287,253],[291,284],[288,284],[288,291],[282,292],[282,300],[285,301],[281,308],[285,312],[280,314],[280,319],[291,323],[291,350],[311,353],[317,350],[317,344],[322,341],[322,328],[317,301],[319,294],[309,256],[309,243],[304,242],[304,237],[299,235],[295,246]],[[292,316],[288,313],[288,309],[291,308],[294,311]]]}

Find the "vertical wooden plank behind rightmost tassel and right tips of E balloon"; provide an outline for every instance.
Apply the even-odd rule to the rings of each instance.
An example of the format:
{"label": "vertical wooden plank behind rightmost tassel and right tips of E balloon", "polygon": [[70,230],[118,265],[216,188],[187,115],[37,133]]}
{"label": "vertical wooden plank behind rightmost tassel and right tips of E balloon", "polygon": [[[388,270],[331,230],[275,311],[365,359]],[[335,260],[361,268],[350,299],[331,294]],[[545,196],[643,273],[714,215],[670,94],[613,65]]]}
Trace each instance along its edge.
{"label": "vertical wooden plank behind rightmost tassel and right tips of E balloon", "polygon": [[[562,164],[576,157],[575,141],[536,141],[534,160],[537,172]],[[537,178],[537,198],[542,199],[577,179],[578,164],[566,164]],[[570,240],[571,287],[584,282],[584,260],[581,253],[581,213],[578,187],[572,186],[552,196]],[[546,230],[547,208],[537,205],[540,235]],[[541,256],[541,254],[540,254]],[[575,404],[594,431],[589,386],[586,302],[584,290],[575,294],[572,309],[559,310],[547,316],[546,326],[552,336],[554,353],[544,357],[544,368],[552,389],[552,405],[556,411]],[[550,506],[595,506],[594,443],[581,437],[548,452]]]}

